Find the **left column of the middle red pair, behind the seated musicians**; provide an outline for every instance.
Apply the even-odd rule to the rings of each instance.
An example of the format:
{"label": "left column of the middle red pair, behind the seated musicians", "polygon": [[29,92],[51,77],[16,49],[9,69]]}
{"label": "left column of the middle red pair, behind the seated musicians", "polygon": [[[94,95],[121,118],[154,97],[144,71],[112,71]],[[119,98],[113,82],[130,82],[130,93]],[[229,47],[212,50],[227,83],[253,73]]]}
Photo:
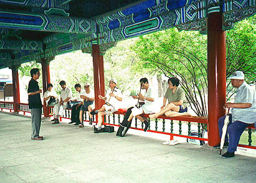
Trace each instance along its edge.
{"label": "left column of the middle red pair, behind the seated musicians", "polygon": [[[100,45],[92,45],[92,61],[93,61],[93,80],[95,94],[95,109],[100,109],[100,78],[99,78],[99,63],[100,63]],[[98,118],[96,119],[98,121]]]}

